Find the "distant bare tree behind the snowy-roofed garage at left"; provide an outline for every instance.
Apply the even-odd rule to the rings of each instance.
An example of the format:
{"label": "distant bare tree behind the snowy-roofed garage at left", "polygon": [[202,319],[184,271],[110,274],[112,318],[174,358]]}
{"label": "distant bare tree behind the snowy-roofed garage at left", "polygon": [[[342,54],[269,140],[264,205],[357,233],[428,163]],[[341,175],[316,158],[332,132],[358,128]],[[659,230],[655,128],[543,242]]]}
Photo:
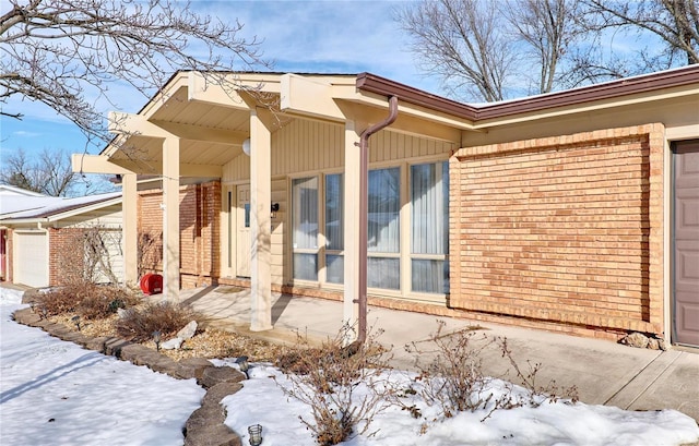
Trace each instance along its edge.
{"label": "distant bare tree behind the snowy-roofed garage at left", "polygon": [[82,195],[78,191],[79,183],[86,186],[85,194],[107,191],[104,186],[106,182],[91,182],[74,173],[70,154],[64,150],[44,149],[38,156],[28,157],[23,149],[19,149],[3,158],[2,164],[0,182],[27,191],[50,196]]}

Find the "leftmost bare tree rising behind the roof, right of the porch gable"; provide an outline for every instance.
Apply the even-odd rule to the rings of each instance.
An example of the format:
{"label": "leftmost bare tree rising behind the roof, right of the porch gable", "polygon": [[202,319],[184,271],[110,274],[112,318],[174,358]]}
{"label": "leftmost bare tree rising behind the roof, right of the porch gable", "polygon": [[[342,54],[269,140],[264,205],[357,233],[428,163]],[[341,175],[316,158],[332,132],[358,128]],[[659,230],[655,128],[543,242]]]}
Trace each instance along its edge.
{"label": "leftmost bare tree rising behind the roof, right of the porch gable", "polygon": [[517,52],[501,32],[496,0],[424,1],[398,10],[395,19],[412,37],[420,68],[451,93],[465,91],[471,100],[506,97]]}

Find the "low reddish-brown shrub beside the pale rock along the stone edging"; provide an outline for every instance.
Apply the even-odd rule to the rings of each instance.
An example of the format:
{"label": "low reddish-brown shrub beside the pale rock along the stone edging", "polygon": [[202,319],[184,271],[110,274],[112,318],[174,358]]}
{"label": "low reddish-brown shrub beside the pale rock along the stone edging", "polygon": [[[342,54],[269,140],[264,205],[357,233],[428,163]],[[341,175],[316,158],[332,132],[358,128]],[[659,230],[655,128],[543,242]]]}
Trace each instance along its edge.
{"label": "low reddish-brown shrub beside the pale rock along the stone edging", "polygon": [[192,310],[178,303],[149,302],[143,308],[131,308],[116,323],[117,334],[125,339],[142,342],[159,332],[163,339],[177,334],[191,321],[201,321]]}

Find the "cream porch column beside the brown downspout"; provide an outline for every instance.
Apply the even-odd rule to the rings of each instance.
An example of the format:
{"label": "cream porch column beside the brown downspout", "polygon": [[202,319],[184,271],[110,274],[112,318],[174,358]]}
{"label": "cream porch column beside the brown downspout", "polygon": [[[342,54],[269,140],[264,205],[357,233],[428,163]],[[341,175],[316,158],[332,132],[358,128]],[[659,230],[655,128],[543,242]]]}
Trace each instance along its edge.
{"label": "cream porch column beside the brown downspout", "polygon": [[[344,178],[344,300],[343,300],[343,324],[352,327],[352,332],[357,333],[359,300],[359,194],[355,184],[359,184],[359,134],[362,129],[359,123],[353,120],[345,121],[345,178]],[[350,185],[353,186],[350,186]],[[351,341],[354,339],[347,339]]]}

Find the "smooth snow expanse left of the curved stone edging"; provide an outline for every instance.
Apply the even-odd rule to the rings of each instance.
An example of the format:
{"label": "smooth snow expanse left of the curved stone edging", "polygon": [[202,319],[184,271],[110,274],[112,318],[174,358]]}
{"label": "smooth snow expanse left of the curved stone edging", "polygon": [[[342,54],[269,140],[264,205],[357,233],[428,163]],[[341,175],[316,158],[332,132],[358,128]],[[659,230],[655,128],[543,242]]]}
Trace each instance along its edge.
{"label": "smooth snow expanse left of the curved stone edging", "polygon": [[0,445],[181,445],[204,390],[11,321],[0,288]]}

